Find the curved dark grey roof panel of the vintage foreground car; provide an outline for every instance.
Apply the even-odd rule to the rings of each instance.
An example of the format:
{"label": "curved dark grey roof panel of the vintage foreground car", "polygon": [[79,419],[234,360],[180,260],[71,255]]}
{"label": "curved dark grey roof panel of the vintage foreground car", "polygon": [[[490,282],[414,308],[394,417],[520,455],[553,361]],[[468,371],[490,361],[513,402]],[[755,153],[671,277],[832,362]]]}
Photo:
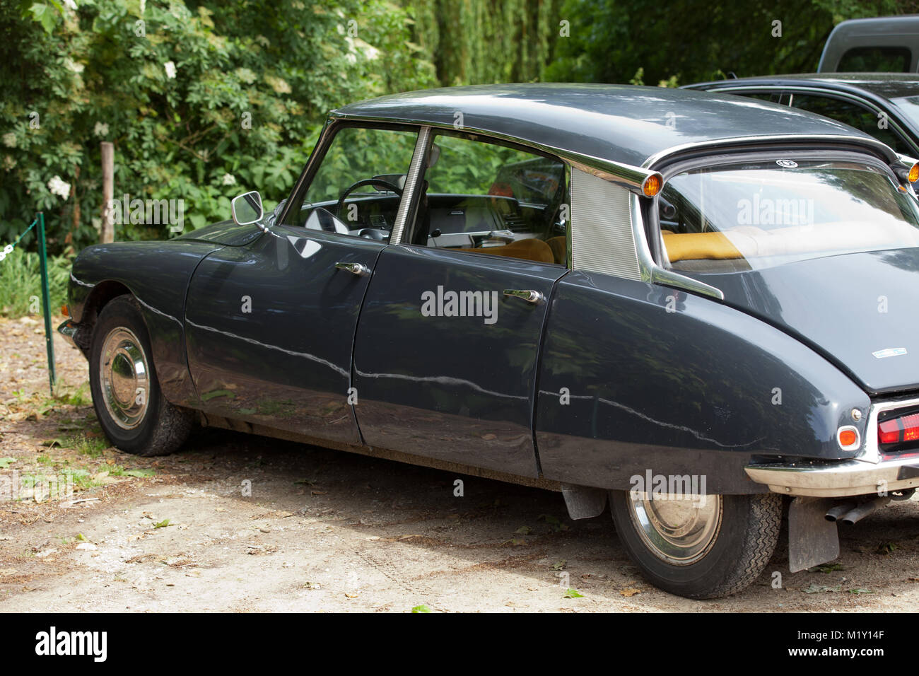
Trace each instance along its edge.
{"label": "curved dark grey roof panel of the vintage foreground car", "polygon": [[727,144],[751,137],[829,141],[843,135],[875,152],[879,146],[868,134],[803,110],[655,86],[445,87],[354,103],[332,111],[331,116],[461,128],[631,166],[646,166],[656,156],[687,144]]}

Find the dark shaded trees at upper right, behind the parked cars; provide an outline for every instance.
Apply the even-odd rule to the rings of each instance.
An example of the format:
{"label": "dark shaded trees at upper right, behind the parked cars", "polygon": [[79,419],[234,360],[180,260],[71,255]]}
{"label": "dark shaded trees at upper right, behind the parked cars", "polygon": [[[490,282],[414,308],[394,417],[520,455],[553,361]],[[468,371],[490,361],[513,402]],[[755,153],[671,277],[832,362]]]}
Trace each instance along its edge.
{"label": "dark shaded trees at upper right, behind the parked cars", "polygon": [[[723,77],[812,73],[834,24],[909,11],[912,0],[564,0],[571,36],[545,78],[674,86]],[[781,37],[774,36],[775,21]]]}

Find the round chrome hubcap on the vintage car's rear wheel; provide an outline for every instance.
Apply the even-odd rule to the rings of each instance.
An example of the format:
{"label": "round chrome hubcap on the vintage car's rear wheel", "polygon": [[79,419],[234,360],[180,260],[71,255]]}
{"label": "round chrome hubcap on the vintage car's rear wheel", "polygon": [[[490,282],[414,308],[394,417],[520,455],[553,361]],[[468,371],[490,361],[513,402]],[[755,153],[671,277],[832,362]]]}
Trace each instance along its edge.
{"label": "round chrome hubcap on the vintage car's rear wheel", "polygon": [[644,544],[676,566],[709,553],[721,527],[720,495],[629,493],[629,513]]}

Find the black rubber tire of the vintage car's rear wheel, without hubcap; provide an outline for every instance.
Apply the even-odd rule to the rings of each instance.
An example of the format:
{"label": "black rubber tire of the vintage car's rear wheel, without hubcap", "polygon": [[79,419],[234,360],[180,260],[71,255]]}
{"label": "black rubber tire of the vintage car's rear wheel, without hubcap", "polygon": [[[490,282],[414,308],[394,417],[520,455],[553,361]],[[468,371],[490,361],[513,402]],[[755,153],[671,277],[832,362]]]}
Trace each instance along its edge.
{"label": "black rubber tire of the vintage car's rear wheel, without hubcap", "polygon": [[708,498],[720,499],[717,532],[699,558],[677,565],[659,556],[640,533],[630,492],[609,492],[619,539],[655,587],[689,599],[715,599],[743,590],[769,563],[778,542],[782,497],[763,493]]}

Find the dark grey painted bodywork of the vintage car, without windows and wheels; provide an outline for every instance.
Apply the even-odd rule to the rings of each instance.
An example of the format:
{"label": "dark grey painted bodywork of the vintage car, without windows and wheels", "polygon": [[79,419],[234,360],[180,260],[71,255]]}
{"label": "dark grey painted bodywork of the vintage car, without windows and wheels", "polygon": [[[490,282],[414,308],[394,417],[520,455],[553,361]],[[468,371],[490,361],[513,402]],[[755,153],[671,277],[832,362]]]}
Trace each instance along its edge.
{"label": "dark grey painted bodywork of the vintage car, without windows and wheels", "polygon": [[[341,125],[449,129],[458,111],[466,132],[558,156],[581,185],[599,176],[628,186],[631,230],[608,246],[624,247],[629,265],[584,262],[572,230],[593,216],[580,192],[567,266],[414,244],[410,190],[400,241],[288,224]],[[893,365],[864,357],[889,347],[891,330],[913,345],[919,316],[902,327],[857,321],[845,340],[827,329],[872,284],[913,302],[916,250],[723,279],[678,273],[649,246],[651,201],[635,187],[686,157],[803,150],[897,160],[819,116],[656,87],[472,86],[346,106],[267,232],[218,223],[169,242],[85,249],[69,297],[77,343],[85,347],[108,298],[130,292],[166,397],[208,424],[548,487],[628,488],[630,475],[653,467],[708,475],[711,492],[766,491],[744,467],[851,461],[866,448],[842,450],[836,430],[855,425],[868,443],[871,407],[919,392],[919,346]],[[372,273],[349,276],[335,269],[342,261]],[[802,296],[815,275],[819,291]],[[447,280],[539,290],[546,302],[505,298],[494,327],[423,320],[419,292]],[[239,311],[243,296],[251,313]],[[775,387],[781,406],[770,402]],[[864,414],[855,422],[854,409]]]}

